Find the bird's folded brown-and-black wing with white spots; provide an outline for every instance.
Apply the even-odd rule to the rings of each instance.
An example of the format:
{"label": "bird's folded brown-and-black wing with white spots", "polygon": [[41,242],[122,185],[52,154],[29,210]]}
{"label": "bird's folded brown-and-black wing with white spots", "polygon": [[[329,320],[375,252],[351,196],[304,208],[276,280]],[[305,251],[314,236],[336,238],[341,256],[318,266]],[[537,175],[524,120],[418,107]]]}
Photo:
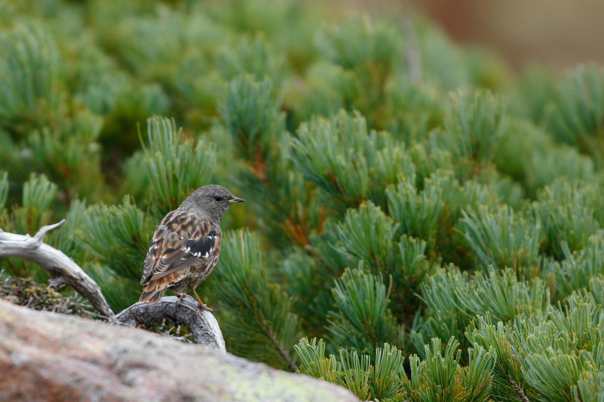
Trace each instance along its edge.
{"label": "bird's folded brown-and-black wing with white spots", "polygon": [[208,258],[218,237],[216,226],[187,211],[173,211],[159,224],[147,252],[141,284],[163,278]]}

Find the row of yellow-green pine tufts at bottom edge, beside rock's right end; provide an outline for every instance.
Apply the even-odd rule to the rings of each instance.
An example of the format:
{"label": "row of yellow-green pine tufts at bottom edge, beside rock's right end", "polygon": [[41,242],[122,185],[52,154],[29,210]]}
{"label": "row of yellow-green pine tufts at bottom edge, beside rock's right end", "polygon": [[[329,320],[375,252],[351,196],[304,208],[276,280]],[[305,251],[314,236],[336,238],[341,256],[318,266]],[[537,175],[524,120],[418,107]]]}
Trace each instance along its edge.
{"label": "row of yellow-green pine tufts at bottom edge, beside rock's right end", "polygon": [[388,343],[375,349],[374,359],[346,349],[340,349],[339,359],[325,357],[325,344],[316,338],[309,342],[304,337],[295,348],[301,360],[298,372],[339,384],[363,400],[488,401],[495,351],[468,349],[469,365],[461,366],[458,346],[451,338],[442,352],[440,339],[433,339],[425,346],[425,359],[409,357],[409,376],[402,369],[402,353]]}

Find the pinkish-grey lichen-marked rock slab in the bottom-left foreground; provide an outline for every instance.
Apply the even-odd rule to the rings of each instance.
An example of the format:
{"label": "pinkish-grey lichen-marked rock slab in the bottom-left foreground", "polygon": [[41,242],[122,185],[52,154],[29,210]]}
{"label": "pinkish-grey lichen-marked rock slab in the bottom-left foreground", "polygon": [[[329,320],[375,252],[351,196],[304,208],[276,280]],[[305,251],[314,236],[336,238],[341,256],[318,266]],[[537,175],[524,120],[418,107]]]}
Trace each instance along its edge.
{"label": "pinkish-grey lichen-marked rock slab in the bottom-left foreground", "polygon": [[325,381],[0,301],[0,401],[358,401]]}

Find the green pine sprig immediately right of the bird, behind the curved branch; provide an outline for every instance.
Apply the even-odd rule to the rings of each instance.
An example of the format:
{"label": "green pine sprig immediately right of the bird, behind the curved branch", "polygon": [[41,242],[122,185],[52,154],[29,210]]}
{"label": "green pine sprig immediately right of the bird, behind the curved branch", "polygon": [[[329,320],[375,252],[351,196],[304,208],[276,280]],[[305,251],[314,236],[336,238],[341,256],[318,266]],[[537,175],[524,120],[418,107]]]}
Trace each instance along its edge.
{"label": "green pine sprig immediately right of the bird, behind the curved branch", "polygon": [[293,346],[300,338],[300,317],[292,296],[269,278],[259,237],[233,231],[223,247],[223,269],[211,279],[208,293],[219,301],[225,341],[233,345],[233,353],[295,369]]}

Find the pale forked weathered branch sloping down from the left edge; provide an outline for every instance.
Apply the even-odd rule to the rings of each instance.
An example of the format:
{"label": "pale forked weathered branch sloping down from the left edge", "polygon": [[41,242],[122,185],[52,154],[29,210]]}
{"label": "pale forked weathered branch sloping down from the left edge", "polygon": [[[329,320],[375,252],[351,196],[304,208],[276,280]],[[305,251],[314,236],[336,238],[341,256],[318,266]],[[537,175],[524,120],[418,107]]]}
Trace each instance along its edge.
{"label": "pale forked weathered branch sloping down from the left edge", "polygon": [[[53,284],[68,284],[88,299],[99,313],[111,317],[114,312],[105,300],[101,288],[71,258],[62,251],[43,243],[44,236],[65,224],[42,226],[34,237],[4,232],[0,229],[0,257],[19,257],[33,261],[53,276]],[[57,278],[57,279],[54,279]]]}

